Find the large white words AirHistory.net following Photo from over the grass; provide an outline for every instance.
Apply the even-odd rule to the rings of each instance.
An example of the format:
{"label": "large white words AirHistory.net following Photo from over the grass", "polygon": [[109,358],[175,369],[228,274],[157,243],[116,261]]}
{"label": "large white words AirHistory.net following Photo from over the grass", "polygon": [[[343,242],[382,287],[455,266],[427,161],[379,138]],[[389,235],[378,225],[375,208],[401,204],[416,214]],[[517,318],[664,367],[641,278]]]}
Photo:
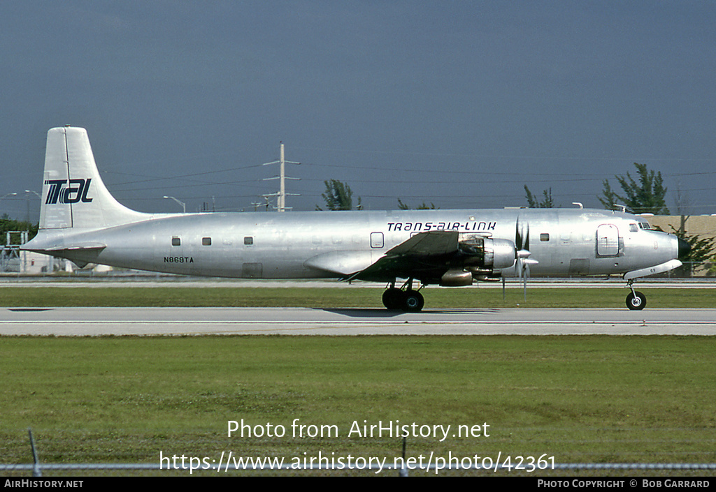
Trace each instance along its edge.
{"label": "large white words AirHistory.net following Photo from over the grass", "polygon": [[[348,431],[348,437],[359,437],[359,438],[440,438],[440,442],[445,441],[450,434],[451,425],[427,425],[419,423],[404,423],[401,424],[400,420],[388,420],[383,423],[382,420],[378,420],[378,423],[369,424],[367,420],[363,420],[363,423],[359,423],[357,420],[353,420],[351,428]],[[490,437],[488,423],[483,425],[456,425],[455,433],[452,434],[454,438],[460,437]]]}

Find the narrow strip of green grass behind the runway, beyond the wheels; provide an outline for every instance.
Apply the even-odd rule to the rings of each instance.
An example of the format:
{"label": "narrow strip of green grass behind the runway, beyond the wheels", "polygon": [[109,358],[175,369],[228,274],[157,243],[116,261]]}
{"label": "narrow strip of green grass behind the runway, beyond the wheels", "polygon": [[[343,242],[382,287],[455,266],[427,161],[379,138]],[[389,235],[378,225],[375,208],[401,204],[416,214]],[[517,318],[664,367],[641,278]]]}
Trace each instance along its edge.
{"label": "narrow strip of green grass behind the runway, beyond the wheels", "polygon": [[[714,289],[642,289],[648,308],[712,308]],[[425,307],[440,308],[624,308],[626,288],[528,289],[430,288],[422,291]],[[6,307],[315,307],[381,308],[382,289],[372,288],[249,288],[249,287],[3,287]]]}

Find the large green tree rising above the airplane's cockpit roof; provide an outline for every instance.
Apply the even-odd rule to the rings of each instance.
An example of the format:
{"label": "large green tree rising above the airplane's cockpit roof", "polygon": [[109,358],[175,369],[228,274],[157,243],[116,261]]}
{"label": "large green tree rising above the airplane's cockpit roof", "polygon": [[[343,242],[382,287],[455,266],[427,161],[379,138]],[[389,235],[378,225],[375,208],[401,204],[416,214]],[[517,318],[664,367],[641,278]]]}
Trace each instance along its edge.
{"label": "large green tree rising above the airplane's cockpit roof", "polygon": [[626,177],[615,176],[624,195],[617,195],[611,190],[609,182],[604,179],[604,190],[602,190],[602,197],[599,197],[601,205],[611,210],[616,202],[620,201],[621,205],[627,207],[627,212],[633,214],[669,215],[665,201],[667,188],[664,187],[662,173],[649,171],[647,164],[634,162],[634,166],[637,167],[638,182],[628,172]]}

